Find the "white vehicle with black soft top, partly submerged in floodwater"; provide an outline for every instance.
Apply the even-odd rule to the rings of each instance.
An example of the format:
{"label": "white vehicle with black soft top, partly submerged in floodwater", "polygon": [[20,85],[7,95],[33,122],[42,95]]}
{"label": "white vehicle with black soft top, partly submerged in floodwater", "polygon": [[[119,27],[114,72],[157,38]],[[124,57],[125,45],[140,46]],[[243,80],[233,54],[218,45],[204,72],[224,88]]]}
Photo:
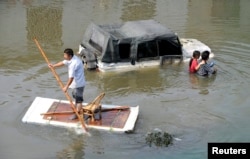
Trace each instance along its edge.
{"label": "white vehicle with black soft top, partly submerged in floodwater", "polygon": [[92,23],[79,45],[79,54],[87,68],[100,71],[155,66],[165,59],[187,61],[195,50],[211,53],[202,42],[179,39],[176,33],[154,20],[107,25]]}

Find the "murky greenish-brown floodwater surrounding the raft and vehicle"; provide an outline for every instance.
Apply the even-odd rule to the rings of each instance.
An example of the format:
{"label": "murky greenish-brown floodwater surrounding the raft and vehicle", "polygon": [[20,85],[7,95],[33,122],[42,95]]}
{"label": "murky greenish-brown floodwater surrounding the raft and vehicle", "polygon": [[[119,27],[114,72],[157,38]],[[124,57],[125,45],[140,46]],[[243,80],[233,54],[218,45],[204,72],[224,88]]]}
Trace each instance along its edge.
{"label": "murky greenish-brown floodwater surrounding the raft and vehicle", "polygon": [[[1,0],[0,158],[207,158],[208,142],[250,142],[249,0]],[[77,51],[90,22],[155,19],[215,53],[218,74],[189,75],[187,63],[123,73],[87,72],[85,101],[140,105],[133,134],[24,124],[36,96],[65,99],[33,42],[51,62]],[[67,70],[57,72],[65,82]],[[42,105],[41,105],[42,106]],[[173,134],[167,148],[149,147],[148,131]]]}

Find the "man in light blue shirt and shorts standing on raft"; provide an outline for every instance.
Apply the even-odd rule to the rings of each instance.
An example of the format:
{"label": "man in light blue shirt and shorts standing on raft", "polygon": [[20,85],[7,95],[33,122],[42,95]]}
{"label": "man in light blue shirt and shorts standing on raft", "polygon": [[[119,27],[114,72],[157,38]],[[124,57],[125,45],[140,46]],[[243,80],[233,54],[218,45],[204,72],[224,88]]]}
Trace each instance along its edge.
{"label": "man in light blue shirt and shorts standing on raft", "polygon": [[[84,68],[82,61],[74,55],[72,49],[67,48],[64,50],[64,60],[60,61],[56,64],[49,64],[49,67],[60,67],[60,66],[68,66],[68,76],[69,79],[66,85],[63,87],[63,91],[67,92],[68,88],[72,88],[72,96],[75,98],[75,106],[77,111],[80,111],[82,108],[83,102],[83,91],[85,87],[85,76],[84,76]],[[70,117],[71,120],[77,119],[76,114]]]}

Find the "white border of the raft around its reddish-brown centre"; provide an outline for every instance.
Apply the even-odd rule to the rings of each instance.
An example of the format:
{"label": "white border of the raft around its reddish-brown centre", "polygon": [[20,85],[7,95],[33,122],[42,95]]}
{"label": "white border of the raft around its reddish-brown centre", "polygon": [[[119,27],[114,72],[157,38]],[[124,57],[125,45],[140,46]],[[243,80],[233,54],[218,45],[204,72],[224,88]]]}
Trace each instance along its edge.
{"label": "white border of the raft around its reddish-brown centre", "polygon": [[[52,125],[52,126],[65,127],[65,128],[82,128],[82,125],[80,122],[75,122],[75,123],[59,122],[59,121],[44,119],[41,113],[46,113],[54,102],[69,103],[68,101],[65,101],[65,100],[36,97],[34,101],[32,102],[31,106],[29,107],[29,109],[27,110],[27,112],[25,113],[25,115],[23,116],[22,122],[39,124],[39,125]],[[83,103],[83,104],[87,104],[87,103]],[[102,104],[103,109],[115,108],[115,107],[119,107],[119,106]],[[139,114],[139,106],[130,107],[130,114],[123,128],[96,126],[96,125],[87,125],[87,124],[86,124],[86,127],[99,129],[99,130],[114,131],[114,132],[131,132],[134,130],[138,114]]]}

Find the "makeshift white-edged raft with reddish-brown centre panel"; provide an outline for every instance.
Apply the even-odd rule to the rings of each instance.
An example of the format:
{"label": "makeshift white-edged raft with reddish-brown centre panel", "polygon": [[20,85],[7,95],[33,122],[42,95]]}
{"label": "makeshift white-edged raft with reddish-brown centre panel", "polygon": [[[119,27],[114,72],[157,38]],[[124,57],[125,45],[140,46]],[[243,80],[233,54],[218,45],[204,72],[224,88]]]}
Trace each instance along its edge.
{"label": "makeshift white-edged raft with reddish-brown centre panel", "polygon": [[[86,104],[83,103],[83,105]],[[45,115],[43,115],[44,113]],[[73,114],[74,112],[68,101],[36,97],[22,118],[22,122],[66,128],[82,128],[78,119],[69,119]],[[138,114],[139,106],[102,104],[101,118],[98,118],[97,113],[95,121],[85,120],[85,124],[86,127],[93,129],[131,132],[134,130]]]}

